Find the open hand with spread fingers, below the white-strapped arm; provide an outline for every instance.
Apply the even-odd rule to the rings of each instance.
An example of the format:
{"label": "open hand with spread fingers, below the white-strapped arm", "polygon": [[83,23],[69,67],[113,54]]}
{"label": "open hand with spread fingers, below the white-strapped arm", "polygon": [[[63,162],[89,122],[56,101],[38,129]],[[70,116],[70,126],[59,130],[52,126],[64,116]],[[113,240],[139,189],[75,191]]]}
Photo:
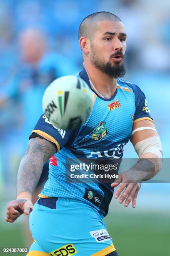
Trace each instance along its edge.
{"label": "open hand with spread fingers, below the white-strapped arm", "polygon": [[129,203],[132,201],[132,207],[135,208],[136,198],[138,196],[141,183],[132,183],[132,177],[130,177],[130,174],[128,172],[124,172],[119,174],[119,178],[115,179],[115,182],[111,184],[111,187],[117,187],[119,184],[120,186],[115,193],[115,198],[117,199],[125,189],[120,196],[119,203],[122,204],[122,202],[125,201],[124,206],[128,207]]}

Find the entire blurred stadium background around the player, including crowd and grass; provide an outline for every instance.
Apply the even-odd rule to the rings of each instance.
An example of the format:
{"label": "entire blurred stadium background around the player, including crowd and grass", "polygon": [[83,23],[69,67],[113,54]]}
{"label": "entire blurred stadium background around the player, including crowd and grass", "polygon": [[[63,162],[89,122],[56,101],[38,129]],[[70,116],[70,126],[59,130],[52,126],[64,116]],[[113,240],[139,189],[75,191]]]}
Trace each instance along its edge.
{"label": "entire blurred stadium background around the player, including crowd and grass", "polygon": [[[53,79],[82,69],[78,27],[101,10],[125,24],[125,79],[145,92],[164,158],[170,158],[169,0],[0,0],[0,247],[29,246],[26,217],[5,223],[6,202],[15,199],[18,165],[42,113],[42,94]],[[131,145],[125,157],[136,157]],[[170,184],[143,184],[135,210],[113,200],[106,222],[120,256],[170,255]]]}

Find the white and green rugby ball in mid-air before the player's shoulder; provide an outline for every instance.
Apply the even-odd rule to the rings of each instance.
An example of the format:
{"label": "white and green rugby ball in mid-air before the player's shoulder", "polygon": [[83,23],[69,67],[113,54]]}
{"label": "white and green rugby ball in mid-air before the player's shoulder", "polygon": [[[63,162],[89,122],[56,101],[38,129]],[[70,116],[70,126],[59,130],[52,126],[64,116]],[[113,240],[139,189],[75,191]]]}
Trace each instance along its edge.
{"label": "white and green rugby ball in mid-air before the player's shoulder", "polygon": [[92,111],[92,91],[80,77],[57,78],[45,90],[42,108],[52,125],[64,130],[75,129]]}

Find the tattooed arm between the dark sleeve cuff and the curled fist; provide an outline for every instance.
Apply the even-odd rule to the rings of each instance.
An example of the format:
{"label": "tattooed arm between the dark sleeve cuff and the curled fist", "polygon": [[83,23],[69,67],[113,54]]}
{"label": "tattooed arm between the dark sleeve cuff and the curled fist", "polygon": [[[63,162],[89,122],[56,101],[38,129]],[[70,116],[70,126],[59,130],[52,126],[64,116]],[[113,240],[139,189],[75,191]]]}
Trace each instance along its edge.
{"label": "tattooed arm between the dark sleeve cuff and the curled fist", "polygon": [[34,191],[45,162],[56,153],[55,145],[42,138],[31,138],[17,175],[17,195]]}

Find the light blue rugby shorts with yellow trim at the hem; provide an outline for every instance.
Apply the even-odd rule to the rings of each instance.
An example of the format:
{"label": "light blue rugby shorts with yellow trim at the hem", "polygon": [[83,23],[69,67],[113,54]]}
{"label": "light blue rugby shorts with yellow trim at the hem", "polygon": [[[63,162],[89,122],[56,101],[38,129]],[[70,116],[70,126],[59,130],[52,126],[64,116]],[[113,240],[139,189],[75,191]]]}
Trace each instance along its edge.
{"label": "light blue rugby shorts with yellow trim at the hem", "polygon": [[117,255],[103,216],[82,202],[40,198],[30,213],[30,230],[35,241],[28,255]]}

